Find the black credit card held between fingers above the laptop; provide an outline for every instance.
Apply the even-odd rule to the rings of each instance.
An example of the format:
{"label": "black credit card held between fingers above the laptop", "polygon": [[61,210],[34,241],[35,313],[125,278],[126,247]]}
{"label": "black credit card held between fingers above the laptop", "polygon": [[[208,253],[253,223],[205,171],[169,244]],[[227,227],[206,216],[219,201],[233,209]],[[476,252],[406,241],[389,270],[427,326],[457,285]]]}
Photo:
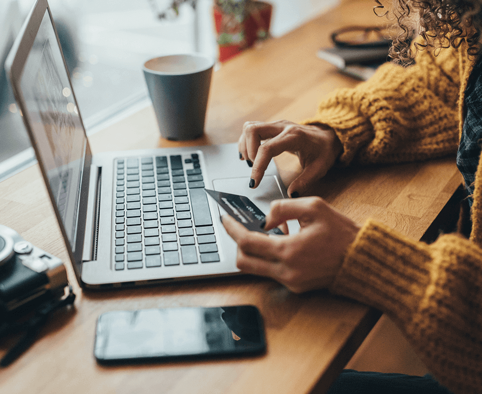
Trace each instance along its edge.
{"label": "black credit card held between fingers above the laptop", "polygon": [[248,230],[283,235],[283,231],[277,227],[269,231],[261,228],[261,223],[265,221],[266,215],[248,197],[209,189],[204,190],[229,216],[243,224]]}

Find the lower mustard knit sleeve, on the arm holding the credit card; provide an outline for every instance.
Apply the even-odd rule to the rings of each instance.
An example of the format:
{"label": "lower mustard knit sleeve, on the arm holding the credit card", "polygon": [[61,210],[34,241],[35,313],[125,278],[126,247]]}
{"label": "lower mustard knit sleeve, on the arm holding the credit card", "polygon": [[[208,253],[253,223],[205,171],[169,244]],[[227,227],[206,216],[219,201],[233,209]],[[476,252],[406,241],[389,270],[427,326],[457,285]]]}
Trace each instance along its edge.
{"label": "lower mustard knit sleeve, on the arm holding the credit card", "polygon": [[369,220],[333,293],[376,307],[454,393],[482,387],[482,249],[457,235],[416,242]]}

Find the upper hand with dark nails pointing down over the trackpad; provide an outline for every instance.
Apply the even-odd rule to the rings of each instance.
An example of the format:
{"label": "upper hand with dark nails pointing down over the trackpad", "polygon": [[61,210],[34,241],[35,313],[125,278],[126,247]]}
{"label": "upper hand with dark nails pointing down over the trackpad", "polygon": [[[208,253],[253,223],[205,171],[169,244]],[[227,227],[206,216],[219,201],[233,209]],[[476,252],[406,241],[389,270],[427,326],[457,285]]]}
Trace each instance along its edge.
{"label": "upper hand with dark nails pointing down over the trackpad", "polygon": [[[268,141],[261,144],[264,140]],[[285,151],[295,153],[303,171],[288,188],[291,197],[298,197],[311,182],[323,178],[343,150],[332,129],[288,120],[246,122],[238,148],[240,158],[253,163],[250,187],[255,188],[273,157]]]}

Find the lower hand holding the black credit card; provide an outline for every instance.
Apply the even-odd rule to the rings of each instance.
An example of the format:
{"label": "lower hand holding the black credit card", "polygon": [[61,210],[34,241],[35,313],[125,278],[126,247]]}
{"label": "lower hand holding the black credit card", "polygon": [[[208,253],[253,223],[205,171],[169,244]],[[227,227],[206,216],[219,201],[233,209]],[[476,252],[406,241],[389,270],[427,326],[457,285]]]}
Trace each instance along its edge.
{"label": "lower hand holding the black credit card", "polygon": [[272,278],[295,293],[330,286],[359,227],[321,198],[303,197],[272,202],[265,230],[290,219],[298,219],[299,233],[267,235],[224,215],[224,228],[238,245],[237,268]]}

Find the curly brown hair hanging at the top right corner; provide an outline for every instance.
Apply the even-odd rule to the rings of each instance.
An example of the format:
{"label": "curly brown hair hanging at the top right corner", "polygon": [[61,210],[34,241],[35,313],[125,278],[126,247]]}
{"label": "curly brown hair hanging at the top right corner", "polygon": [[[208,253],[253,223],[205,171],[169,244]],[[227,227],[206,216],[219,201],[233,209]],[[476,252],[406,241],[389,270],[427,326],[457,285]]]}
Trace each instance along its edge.
{"label": "curly brown hair hanging at the top right corner", "polygon": [[[374,11],[380,15],[385,7],[375,0]],[[468,44],[468,54],[482,52],[482,0],[393,0],[393,8],[385,14],[392,19],[398,34],[392,34],[390,56],[398,63],[413,62],[417,50],[423,48],[458,48]],[[413,46],[412,38],[418,34]]]}

